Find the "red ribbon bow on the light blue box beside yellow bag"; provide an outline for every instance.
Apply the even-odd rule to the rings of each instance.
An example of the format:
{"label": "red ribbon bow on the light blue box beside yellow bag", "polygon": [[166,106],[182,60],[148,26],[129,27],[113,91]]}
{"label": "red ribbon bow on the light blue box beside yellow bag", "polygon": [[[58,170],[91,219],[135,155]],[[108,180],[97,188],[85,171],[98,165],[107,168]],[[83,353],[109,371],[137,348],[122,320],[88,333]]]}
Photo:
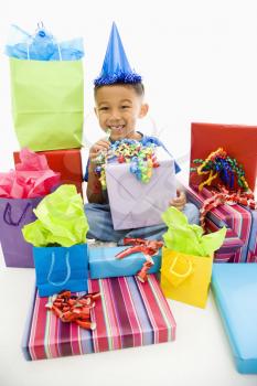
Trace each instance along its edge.
{"label": "red ribbon bow on the light blue box beside yellow bag", "polygon": [[132,246],[117,254],[116,257],[118,259],[122,259],[126,256],[141,251],[146,257],[147,261],[143,262],[143,266],[140,269],[140,271],[137,274],[137,277],[141,282],[146,282],[148,280],[147,274],[154,264],[151,256],[158,255],[159,249],[163,247],[163,242],[125,237],[124,244],[132,245]]}

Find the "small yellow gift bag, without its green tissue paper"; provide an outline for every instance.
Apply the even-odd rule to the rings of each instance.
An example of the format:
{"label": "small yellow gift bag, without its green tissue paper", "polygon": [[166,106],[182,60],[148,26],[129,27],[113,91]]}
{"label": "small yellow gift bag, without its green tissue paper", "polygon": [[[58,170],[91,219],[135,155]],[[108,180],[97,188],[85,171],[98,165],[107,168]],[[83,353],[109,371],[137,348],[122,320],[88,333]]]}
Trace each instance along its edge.
{"label": "small yellow gift bag, without its green tissue paper", "polygon": [[161,288],[164,296],[205,308],[213,256],[185,255],[162,248]]}

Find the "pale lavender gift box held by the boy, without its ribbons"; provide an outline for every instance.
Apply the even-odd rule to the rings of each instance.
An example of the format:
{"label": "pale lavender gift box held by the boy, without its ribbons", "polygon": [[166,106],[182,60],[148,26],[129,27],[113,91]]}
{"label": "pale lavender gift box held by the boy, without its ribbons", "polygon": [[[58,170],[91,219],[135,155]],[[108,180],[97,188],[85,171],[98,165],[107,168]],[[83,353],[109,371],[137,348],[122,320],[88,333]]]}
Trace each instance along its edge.
{"label": "pale lavender gift box held by the boy, without its ribbons", "polygon": [[163,223],[161,214],[176,195],[174,159],[162,148],[156,149],[159,168],[148,183],[137,180],[130,163],[109,163],[106,182],[115,229],[139,228]]}

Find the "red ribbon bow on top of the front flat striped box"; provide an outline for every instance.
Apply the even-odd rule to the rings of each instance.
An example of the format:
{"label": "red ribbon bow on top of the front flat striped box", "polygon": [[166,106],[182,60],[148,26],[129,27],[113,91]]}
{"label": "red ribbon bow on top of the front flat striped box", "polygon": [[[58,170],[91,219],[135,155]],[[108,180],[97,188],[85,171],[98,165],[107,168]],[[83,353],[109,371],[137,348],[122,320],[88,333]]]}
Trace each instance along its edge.
{"label": "red ribbon bow on top of the front flat striped box", "polygon": [[71,291],[62,291],[54,294],[45,304],[62,322],[75,322],[82,329],[95,330],[96,323],[90,320],[90,310],[95,307],[95,300],[100,298],[99,292],[72,296]]}

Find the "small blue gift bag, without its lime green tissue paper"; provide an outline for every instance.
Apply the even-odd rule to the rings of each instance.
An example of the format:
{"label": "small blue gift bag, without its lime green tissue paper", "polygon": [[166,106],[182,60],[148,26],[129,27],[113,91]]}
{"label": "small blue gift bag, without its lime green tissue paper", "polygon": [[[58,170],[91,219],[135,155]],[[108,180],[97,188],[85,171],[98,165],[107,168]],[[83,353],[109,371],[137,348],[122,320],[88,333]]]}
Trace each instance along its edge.
{"label": "small blue gift bag, without its lime green tissue paper", "polygon": [[86,244],[72,247],[33,247],[36,287],[40,297],[62,290],[87,292],[88,254]]}

